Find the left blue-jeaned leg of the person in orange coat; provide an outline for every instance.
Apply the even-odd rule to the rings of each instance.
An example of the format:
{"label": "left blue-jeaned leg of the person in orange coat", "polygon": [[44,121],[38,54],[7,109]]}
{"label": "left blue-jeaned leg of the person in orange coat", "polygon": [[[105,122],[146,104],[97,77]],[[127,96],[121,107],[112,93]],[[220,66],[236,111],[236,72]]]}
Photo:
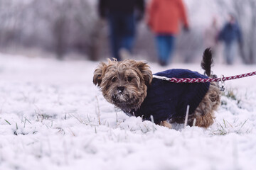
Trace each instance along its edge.
{"label": "left blue-jeaned leg of the person in orange coat", "polygon": [[156,48],[159,56],[159,62],[161,65],[167,65],[169,50],[168,50],[168,38],[166,35],[156,35]]}

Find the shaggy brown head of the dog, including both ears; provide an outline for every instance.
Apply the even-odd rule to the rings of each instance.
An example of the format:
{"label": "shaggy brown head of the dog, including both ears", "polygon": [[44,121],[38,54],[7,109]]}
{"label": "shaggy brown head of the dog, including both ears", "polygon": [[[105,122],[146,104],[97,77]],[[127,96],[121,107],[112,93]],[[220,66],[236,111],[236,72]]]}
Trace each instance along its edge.
{"label": "shaggy brown head of the dog, including both ears", "polygon": [[101,62],[93,76],[93,83],[100,86],[106,100],[125,112],[141,106],[151,81],[149,65],[134,60]]}

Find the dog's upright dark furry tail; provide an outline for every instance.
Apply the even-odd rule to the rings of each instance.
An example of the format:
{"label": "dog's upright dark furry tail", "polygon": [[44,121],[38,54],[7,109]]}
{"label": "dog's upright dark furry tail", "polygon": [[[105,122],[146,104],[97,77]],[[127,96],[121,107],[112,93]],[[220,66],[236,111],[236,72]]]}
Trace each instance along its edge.
{"label": "dog's upright dark furry tail", "polygon": [[212,75],[211,67],[213,66],[213,55],[210,48],[206,48],[206,50],[203,52],[203,60],[201,62],[202,69],[205,70],[204,74],[206,74],[208,77]]}

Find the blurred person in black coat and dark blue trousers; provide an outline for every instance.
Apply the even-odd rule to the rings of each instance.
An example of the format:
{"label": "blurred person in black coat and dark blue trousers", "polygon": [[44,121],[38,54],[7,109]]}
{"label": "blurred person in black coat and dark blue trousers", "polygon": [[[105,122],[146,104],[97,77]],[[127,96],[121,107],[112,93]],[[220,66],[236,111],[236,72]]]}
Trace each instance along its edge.
{"label": "blurred person in black coat and dark blue trousers", "polygon": [[144,0],[100,0],[99,14],[110,27],[112,57],[121,59],[121,52],[132,52],[137,21],[144,16]]}

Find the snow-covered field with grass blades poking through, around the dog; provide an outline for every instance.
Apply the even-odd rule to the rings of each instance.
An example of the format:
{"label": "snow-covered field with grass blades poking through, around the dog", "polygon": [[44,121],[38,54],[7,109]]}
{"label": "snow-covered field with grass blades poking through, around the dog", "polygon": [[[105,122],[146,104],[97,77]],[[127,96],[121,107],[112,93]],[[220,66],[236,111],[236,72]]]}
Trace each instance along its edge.
{"label": "snow-covered field with grass blades poking through, around the dog", "polygon": [[[198,64],[171,68],[203,72]],[[0,169],[255,169],[256,77],[227,81],[207,130],[128,117],[92,84],[97,62],[0,55]],[[254,66],[215,64],[231,76]]]}

